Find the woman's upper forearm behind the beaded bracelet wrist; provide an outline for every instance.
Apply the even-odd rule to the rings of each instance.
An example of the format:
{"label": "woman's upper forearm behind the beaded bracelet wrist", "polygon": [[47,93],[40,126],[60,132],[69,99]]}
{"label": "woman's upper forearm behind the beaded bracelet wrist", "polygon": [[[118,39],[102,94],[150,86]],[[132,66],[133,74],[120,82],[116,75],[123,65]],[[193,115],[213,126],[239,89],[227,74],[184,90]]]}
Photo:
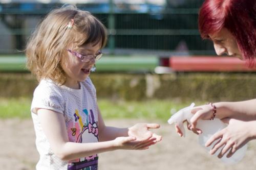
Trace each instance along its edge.
{"label": "woman's upper forearm behind the beaded bracelet wrist", "polygon": [[214,103],[218,118],[237,118],[241,120],[256,120],[256,99],[241,102]]}

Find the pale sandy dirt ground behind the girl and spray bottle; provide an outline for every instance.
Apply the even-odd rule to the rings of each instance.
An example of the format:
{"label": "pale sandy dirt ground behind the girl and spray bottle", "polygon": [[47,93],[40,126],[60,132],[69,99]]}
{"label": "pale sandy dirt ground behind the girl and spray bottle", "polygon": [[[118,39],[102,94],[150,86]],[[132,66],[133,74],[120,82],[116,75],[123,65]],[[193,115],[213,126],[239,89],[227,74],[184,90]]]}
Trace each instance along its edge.
{"label": "pale sandy dirt ground behind the girl and spray bottle", "polygon": [[[109,126],[127,127],[145,120],[117,119],[105,120]],[[235,165],[223,164],[210,156],[197,143],[197,136],[189,133],[180,138],[174,127],[163,122],[156,130],[163,136],[161,143],[146,151],[114,151],[99,155],[99,169],[218,169],[252,170],[256,167],[256,141],[249,143],[244,159]],[[0,120],[0,165],[5,170],[32,170],[38,160],[32,120]]]}

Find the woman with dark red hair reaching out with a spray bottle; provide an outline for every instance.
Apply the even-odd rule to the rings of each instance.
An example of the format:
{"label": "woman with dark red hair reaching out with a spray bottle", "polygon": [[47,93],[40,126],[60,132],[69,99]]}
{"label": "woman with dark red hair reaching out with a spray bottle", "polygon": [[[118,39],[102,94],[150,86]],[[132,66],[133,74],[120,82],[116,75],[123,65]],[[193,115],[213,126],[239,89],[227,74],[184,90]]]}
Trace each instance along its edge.
{"label": "woman with dark red hair reaching out with a spray bottle", "polygon": [[[226,54],[245,60],[255,66],[256,57],[256,0],[206,0],[199,12],[199,30],[202,38],[214,43],[217,55]],[[218,140],[210,154],[220,151],[221,158],[231,157],[245,143],[256,139],[256,99],[241,102],[218,102],[195,107],[188,129],[196,134],[199,119],[220,118],[228,126],[214,134],[206,147]],[[177,133],[182,132],[176,126]]]}

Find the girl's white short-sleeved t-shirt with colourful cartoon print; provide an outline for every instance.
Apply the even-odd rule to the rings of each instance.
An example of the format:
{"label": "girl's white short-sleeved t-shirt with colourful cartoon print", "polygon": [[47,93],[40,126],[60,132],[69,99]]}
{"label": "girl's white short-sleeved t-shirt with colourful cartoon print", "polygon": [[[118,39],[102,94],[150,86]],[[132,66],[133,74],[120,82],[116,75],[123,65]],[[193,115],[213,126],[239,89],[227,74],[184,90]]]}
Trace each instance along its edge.
{"label": "girl's white short-sleeved t-shirt with colourful cartoon print", "polygon": [[[52,151],[42,131],[36,108],[44,108],[63,114],[69,140],[86,143],[98,142],[98,112],[96,90],[90,78],[80,82],[80,89],[59,86],[51,80],[41,80],[34,91],[31,115],[36,134],[36,148],[40,159],[37,170],[97,169],[98,156],[93,155],[72,161],[62,161]],[[88,167],[88,168],[86,168]]]}

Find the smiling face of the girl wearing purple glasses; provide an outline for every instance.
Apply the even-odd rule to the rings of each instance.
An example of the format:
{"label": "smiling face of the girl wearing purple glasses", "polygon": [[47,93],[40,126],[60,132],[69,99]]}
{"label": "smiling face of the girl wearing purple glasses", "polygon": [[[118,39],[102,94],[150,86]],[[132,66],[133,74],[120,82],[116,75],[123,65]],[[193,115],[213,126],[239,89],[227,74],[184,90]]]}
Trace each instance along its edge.
{"label": "smiling face of the girl wearing purple glasses", "polygon": [[[82,55],[94,55],[100,53],[100,43],[93,46],[91,43],[79,46],[76,53]],[[73,51],[72,47],[68,48],[69,50]],[[81,59],[70,51],[66,51],[66,56],[61,62],[62,69],[65,71],[67,75],[67,80],[64,85],[78,89],[79,84],[78,82],[86,80],[86,78],[90,75],[90,70],[95,64],[94,57],[86,58],[86,62],[82,62]]]}

